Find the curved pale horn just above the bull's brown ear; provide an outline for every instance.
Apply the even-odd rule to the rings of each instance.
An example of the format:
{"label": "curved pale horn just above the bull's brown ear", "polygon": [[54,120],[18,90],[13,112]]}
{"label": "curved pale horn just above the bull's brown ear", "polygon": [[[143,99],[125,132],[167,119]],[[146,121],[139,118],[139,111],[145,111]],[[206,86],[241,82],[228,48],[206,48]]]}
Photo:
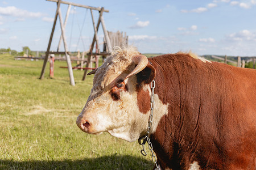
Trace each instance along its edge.
{"label": "curved pale horn just above the bull's brown ear", "polygon": [[126,78],[129,78],[130,76],[133,76],[133,75],[139,73],[140,71],[142,71],[147,66],[147,63],[148,63],[147,57],[143,56],[141,54],[137,54],[137,55],[133,56],[132,60],[135,64],[137,64],[137,66],[135,67],[135,69],[133,71],[131,71],[130,74],[128,74],[126,76]]}

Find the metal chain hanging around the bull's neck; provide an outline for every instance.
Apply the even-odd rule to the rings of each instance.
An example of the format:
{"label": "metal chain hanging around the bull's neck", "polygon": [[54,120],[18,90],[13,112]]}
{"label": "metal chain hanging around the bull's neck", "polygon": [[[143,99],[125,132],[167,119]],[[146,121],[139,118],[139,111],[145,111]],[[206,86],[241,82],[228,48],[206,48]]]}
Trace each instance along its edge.
{"label": "metal chain hanging around the bull's neck", "polygon": [[149,136],[150,136],[150,129],[151,129],[152,120],[153,120],[153,110],[155,108],[154,89],[155,89],[155,80],[152,80],[152,82],[151,82],[151,96],[150,96],[150,116],[148,118],[147,132],[146,132],[146,135],[144,135],[143,137],[140,137],[138,139],[138,142],[139,142],[139,145],[142,145],[143,149],[141,150],[141,154],[143,156],[147,156],[147,152],[145,151],[145,148],[144,148],[144,145],[147,142],[148,149],[151,151],[151,157],[152,157],[153,162],[156,165],[156,169],[160,170],[160,166],[158,166],[158,164],[156,163],[156,157],[155,157],[154,152],[153,152],[153,146],[152,146],[152,143],[150,142],[150,138],[149,138]]}

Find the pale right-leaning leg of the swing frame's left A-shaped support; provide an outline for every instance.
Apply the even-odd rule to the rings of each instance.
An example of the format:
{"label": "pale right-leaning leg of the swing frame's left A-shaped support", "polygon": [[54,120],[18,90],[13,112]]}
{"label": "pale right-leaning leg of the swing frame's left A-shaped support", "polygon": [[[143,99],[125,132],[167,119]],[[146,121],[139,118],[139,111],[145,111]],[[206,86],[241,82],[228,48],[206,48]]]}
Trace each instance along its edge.
{"label": "pale right-leaning leg of the swing frame's left A-shaped support", "polygon": [[71,60],[70,60],[70,57],[69,57],[69,54],[68,54],[68,46],[67,46],[67,41],[66,41],[66,36],[65,36],[65,28],[64,28],[64,25],[63,25],[63,20],[62,20],[60,9],[59,9],[58,12],[59,12],[59,19],[60,19],[60,28],[61,28],[61,33],[62,33],[63,43],[64,43],[64,49],[65,49],[65,56],[66,56],[67,64],[68,64],[69,79],[70,79],[71,85],[75,86],[73,69],[72,69]]}

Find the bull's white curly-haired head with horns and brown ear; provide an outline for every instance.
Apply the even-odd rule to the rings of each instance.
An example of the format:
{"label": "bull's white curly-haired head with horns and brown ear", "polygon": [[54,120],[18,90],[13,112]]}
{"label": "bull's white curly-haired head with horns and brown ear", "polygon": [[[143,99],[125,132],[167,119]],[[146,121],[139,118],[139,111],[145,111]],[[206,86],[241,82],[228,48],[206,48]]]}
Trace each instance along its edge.
{"label": "bull's white curly-haired head with horns and brown ear", "polygon": [[135,141],[147,130],[155,68],[133,46],[115,47],[106,62],[92,73],[93,87],[77,117],[77,126],[89,134],[108,132]]}

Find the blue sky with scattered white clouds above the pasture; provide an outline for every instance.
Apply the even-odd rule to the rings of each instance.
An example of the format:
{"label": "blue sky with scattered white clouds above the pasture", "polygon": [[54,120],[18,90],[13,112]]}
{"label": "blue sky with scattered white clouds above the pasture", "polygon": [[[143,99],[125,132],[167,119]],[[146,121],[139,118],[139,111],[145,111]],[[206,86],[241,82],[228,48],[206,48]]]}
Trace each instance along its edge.
{"label": "blue sky with scattered white clouds above the pasture", "polygon": [[[82,1],[105,7],[108,31],[123,31],[142,53],[189,51],[203,55],[256,56],[256,0]],[[61,5],[63,18],[68,5]],[[56,3],[45,0],[0,1],[0,48],[46,50]],[[94,11],[97,22],[98,12]],[[57,20],[51,50],[60,38]],[[72,7],[66,27],[68,49],[88,50],[93,38],[90,11]],[[100,41],[104,35],[101,27]],[[102,48],[102,45],[101,45]],[[63,45],[61,45],[63,50]]]}

